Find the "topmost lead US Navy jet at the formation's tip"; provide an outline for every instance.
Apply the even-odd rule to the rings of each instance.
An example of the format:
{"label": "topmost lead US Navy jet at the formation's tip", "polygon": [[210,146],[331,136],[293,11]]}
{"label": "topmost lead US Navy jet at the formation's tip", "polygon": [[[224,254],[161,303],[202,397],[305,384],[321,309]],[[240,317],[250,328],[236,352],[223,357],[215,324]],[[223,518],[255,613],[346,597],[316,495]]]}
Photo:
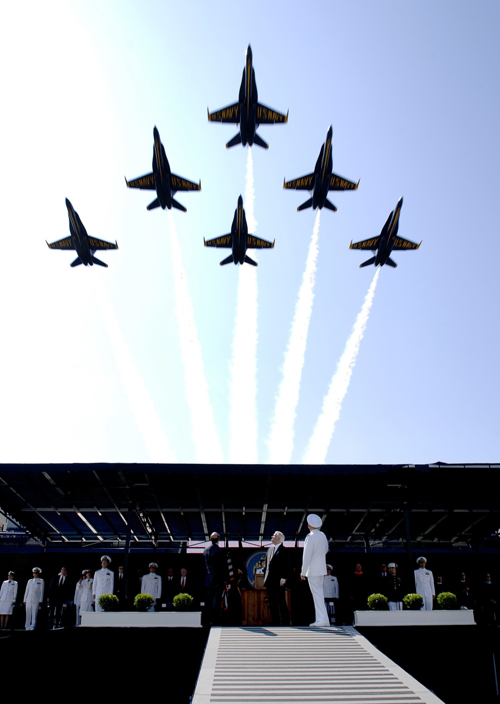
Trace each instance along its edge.
{"label": "topmost lead US Navy jet at the formation's tip", "polygon": [[243,146],[258,144],[258,146],[268,149],[269,145],[256,132],[259,125],[288,122],[288,111],[286,115],[282,115],[258,101],[250,44],[248,44],[246,51],[245,68],[241,78],[238,102],[216,110],[214,113],[210,113],[207,108],[207,113],[209,122],[233,122],[236,125],[240,125],[240,134],[236,134],[233,139],[229,140],[226,147],[235,146],[235,144],[242,144]]}

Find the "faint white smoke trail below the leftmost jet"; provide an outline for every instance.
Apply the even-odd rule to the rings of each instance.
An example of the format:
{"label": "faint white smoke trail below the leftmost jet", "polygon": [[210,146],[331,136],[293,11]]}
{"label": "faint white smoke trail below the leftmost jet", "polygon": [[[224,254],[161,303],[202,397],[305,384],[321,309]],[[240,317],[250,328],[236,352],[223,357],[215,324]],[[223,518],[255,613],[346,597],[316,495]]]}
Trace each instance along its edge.
{"label": "faint white smoke trail below the leftmost jet", "polygon": [[97,286],[99,289],[98,306],[108,329],[124,390],[129,397],[130,410],[134,413],[150,458],[153,462],[158,463],[177,463],[177,458],[163,432],[153,400],[144,386],[141,375],[136,370],[129,346],[123,337],[120,325],[118,325],[108,291],[103,285],[97,284]]}

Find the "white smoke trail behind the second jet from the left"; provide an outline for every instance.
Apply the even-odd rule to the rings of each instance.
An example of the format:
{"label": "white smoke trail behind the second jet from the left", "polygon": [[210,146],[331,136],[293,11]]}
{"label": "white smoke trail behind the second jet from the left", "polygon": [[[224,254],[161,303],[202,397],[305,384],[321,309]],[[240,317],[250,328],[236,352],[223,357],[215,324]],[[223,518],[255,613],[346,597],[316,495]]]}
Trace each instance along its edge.
{"label": "white smoke trail behind the second jet from the left", "polygon": [[169,211],[169,234],[172,244],[174,266],[175,314],[179,326],[179,346],[184,363],[186,400],[191,413],[192,437],[196,450],[196,462],[220,464],[223,461],[219,434],[214,422],[214,413],[208,395],[207,379],[203,369],[201,346],[188,291],[186,271],[182,263],[179,236],[174,216]]}

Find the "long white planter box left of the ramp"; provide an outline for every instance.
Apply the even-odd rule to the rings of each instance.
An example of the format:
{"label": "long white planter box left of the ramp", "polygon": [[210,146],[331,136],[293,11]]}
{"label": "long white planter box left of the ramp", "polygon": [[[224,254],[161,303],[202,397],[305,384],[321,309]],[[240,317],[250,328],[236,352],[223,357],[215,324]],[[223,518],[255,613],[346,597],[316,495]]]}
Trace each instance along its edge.
{"label": "long white planter box left of the ramp", "polygon": [[83,611],[80,615],[80,628],[201,628],[201,611]]}

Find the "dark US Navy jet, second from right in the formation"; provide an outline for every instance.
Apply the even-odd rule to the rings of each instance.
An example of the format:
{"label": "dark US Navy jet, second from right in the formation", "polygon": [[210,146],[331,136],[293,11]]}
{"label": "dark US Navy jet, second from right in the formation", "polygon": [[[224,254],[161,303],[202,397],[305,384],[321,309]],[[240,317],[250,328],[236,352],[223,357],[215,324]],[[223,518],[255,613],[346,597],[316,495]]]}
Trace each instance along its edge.
{"label": "dark US Navy jet, second from right in the formation", "polygon": [[325,144],[321,145],[319,150],[318,161],[314,167],[312,174],[295,178],[292,181],[283,179],[283,188],[295,188],[296,191],[312,192],[312,198],[302,203],[297,210],[305,210],[305,208],[328,208],[328,210],[336,211],[337,208],[331,203],[328,198],[328,191],[356,191],[359,181],[354,183],[348,181],[342,176],[332,173],[332,132],[333,128],[330,125],[326,132]]}

